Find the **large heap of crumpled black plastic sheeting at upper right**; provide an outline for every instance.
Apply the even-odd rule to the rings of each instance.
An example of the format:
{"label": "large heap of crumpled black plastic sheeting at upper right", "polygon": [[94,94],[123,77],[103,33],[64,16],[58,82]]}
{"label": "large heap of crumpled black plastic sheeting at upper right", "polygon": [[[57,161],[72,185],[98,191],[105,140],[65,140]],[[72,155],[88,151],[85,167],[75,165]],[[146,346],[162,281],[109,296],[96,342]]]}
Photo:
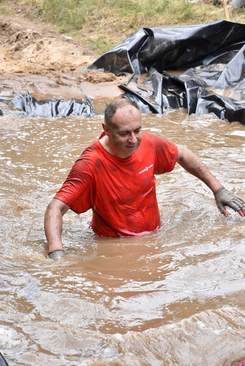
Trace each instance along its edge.
{"label": "large heap of crumpled black plastic sheeting at upper right", "polygon": [[[137,101],[143,113],[183,107],[189,115],[215,113],[245,124],[244,24],[220,20],[143,28],[88,69],[132,74],[127,85],[119,87],[125,91],[122,97]],[[166,70],[185,72],[174,76]],[[145,72],[143,85],[139,84],[139,75]]]}

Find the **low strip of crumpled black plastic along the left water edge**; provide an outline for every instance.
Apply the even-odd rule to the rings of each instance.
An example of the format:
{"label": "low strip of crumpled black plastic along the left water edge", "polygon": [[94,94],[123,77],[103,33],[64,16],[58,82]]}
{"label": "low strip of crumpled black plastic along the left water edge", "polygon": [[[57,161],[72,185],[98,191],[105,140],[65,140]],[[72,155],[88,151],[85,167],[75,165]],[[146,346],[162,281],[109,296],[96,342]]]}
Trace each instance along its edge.
{"label": "low strip of crumpled black plastic along the left water edge", "polygon": [[0,116],[9,114],[18,117],[92,116],[93,108],[89,98],[86,98],[85,100],[74,98],[71,101],[62,99],[56,99],[56,101],[38,101],[27,91],[25,95],[20,94],[18,98],[0,97]]}

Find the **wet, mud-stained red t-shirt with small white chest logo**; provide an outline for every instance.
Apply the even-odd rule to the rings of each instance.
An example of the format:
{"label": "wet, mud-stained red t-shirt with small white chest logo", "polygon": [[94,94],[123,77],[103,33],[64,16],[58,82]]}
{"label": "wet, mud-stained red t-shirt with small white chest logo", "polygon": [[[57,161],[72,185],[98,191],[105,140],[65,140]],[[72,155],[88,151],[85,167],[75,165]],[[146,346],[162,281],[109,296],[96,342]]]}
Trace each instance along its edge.
{"label": "wet, mud-stained red t-shirt with small white chest logo", "polygon": [[174,169],[177,146],[143,132],[136,152],[119,158],[99,139],[75,162],[55,198],[78,214],[91,208],[90,228],[99,236],[141,236],[159,229],[154,174]]}

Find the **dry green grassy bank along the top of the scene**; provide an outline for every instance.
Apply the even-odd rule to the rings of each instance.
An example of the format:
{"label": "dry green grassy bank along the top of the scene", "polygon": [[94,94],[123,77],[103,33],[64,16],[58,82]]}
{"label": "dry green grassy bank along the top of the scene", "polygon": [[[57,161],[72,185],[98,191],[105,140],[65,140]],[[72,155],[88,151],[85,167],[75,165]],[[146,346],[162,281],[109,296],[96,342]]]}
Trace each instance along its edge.
{"label": "dry green grassy bank along the top of the scene", "polygon": [[[206,0],[207,1],[207,0]],[[226,19],[223,8],[185,0],[0,0],[2,15],[49,22],[102,54],[142,27],[204,24]],[[245,23],[244,9],[233,22]]]}

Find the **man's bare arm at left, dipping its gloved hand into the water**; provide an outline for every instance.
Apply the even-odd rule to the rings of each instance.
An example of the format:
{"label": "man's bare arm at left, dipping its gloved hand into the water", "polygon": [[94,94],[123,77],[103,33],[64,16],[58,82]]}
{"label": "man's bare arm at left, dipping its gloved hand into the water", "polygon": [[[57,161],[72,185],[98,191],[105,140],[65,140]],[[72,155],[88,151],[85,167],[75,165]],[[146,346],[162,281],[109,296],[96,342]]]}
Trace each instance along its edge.
{"label": "man's bare arm at left, dipping its gloved hand into the water", "polygon": [[53,198],[45,211],[44,231],[48,241],[49,258],[56,259],[60,254],[64,254],[61,241],[62,217],[69,208],[60,199]]}

